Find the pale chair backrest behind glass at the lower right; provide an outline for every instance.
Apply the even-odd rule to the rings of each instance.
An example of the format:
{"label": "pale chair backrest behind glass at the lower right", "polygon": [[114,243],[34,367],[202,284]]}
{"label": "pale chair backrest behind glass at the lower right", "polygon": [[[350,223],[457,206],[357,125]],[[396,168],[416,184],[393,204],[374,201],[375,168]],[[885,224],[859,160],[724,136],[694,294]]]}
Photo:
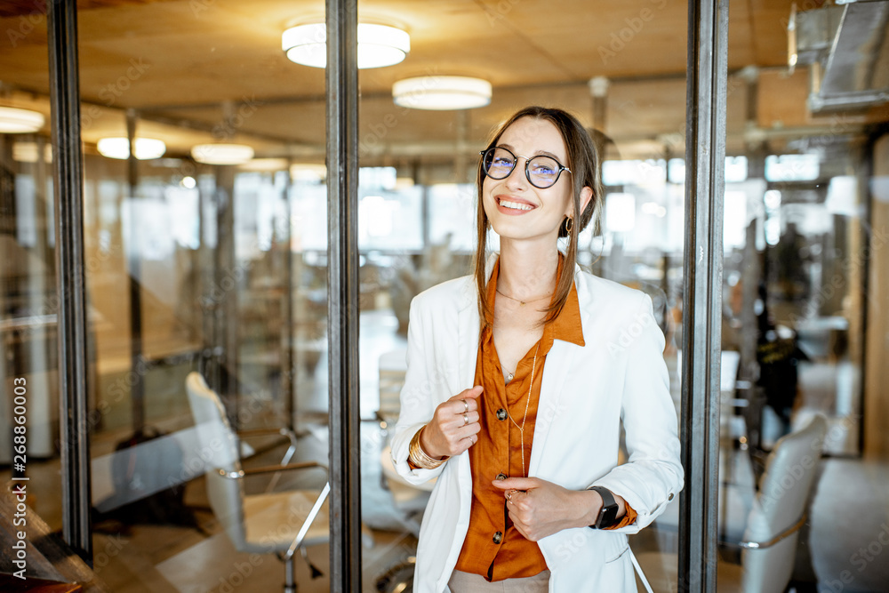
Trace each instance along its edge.
{"label": "pale chair backrest behind glass at the lower right", "polygon": [[787,587],[797,555],[798,531],[772,545],[765,544],[793,530],[804,518],[826,432],[824,417],[815,415],[805,429],[781,437],[769,454],[744,532],[744,541],[764,544],[741,553],[745,592],[781,593]]}

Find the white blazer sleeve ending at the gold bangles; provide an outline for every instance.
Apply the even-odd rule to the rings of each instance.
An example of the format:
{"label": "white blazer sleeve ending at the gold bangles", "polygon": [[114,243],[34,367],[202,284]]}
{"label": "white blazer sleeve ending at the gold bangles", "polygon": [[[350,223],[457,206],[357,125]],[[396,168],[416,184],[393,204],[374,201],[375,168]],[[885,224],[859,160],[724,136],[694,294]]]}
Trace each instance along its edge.
{"label": "white blazer sleeve ending at the gold bangles", "polygon": [[411,314],[407,325],[407,373],[401,389],[401,412],[392,437],[392,463],[401,477],[411,484],[422,484],[438,477],[447,462],[436,469],[411,469],[407,464],[408,448],[411,439],[425,426],[436,411],[438,402],[437,381],[444,381],[444,375],[436,373],[432,352],[428,352],[431,335],[426,335],[424,327],[422,297],[411,301]]}

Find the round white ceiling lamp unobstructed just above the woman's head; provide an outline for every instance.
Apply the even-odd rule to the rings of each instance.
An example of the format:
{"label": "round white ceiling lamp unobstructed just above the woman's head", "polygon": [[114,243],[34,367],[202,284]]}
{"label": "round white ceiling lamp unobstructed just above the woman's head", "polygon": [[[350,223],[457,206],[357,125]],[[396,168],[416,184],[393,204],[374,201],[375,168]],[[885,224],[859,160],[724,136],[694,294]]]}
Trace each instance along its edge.
{"label": "round white ceiling lamp unobstructed just above the woman's head", "polygon": [[418,76],[392,85],[392,100],[400,107],[445,111],[485,107],[491,83],[469,76]]}

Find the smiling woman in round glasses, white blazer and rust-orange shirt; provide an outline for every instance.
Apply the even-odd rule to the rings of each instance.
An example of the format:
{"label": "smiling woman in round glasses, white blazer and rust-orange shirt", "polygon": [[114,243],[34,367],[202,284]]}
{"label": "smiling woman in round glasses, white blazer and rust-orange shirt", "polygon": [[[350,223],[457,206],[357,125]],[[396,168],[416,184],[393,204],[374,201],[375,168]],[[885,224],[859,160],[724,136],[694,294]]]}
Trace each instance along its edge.
{"label": "smiling woman in round glasses, white blazer and rust-orange shirt", "polygon": [[[518,111],[482,151],[475,278],[412,302],[392,459],[412,484],[438,478],[416,591],[631,590],[626,533],[682,488],[663,335],[652,321],[608,348],[640,315],[653,319],[651,301],[574,262],[600,204],[598,167],[575,117]],[[501,237],[490,259],[488,228]],[[441,368],[454,372],[431,381]]]}

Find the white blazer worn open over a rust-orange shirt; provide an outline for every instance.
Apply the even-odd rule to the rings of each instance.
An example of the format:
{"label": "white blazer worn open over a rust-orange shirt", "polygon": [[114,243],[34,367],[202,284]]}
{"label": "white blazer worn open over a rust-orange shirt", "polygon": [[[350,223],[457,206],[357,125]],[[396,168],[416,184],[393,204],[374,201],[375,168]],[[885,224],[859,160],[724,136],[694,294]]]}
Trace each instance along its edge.
{"label": "white blazer worn open over a rust-orange shirt", "polygon": [[[612,531],[565,529],[538,544],[551,592],[636,591],[627,533],[650,524],[683,485],[664,337],[644,292],[580,268],[574,284],[586,345],[557,340],[549,350],[528,475],[573,490],[605,486],[638,517]],[[413,589],[418,593],[449,590],[469,527],[472,477],[467,453],[436,469],[411,469],[408,447],[437,405],[473,386],[478,338],[472,276],[438,284],[412,301],[392,458],[413,484],[438,478],[420,528]],[[618,465],[621,421],[629,459]]]}

